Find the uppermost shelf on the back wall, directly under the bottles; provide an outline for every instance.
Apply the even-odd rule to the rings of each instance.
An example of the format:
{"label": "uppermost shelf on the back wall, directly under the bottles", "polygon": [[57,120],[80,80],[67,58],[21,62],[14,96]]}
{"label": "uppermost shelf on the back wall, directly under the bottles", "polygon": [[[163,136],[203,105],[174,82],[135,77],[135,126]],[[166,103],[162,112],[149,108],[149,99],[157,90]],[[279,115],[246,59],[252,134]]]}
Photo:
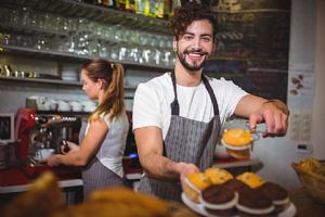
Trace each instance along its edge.
{"label": "uppermost shelf on the back wall, directly under the bottles", "polygon": [[171,35],[166,20],[121,12],[74,0],[1,0],[0,5],[11,9],[27,7],[41,12],[57,13],[65,17],[80,17],[106,24],[120,24],[134,29]]}

